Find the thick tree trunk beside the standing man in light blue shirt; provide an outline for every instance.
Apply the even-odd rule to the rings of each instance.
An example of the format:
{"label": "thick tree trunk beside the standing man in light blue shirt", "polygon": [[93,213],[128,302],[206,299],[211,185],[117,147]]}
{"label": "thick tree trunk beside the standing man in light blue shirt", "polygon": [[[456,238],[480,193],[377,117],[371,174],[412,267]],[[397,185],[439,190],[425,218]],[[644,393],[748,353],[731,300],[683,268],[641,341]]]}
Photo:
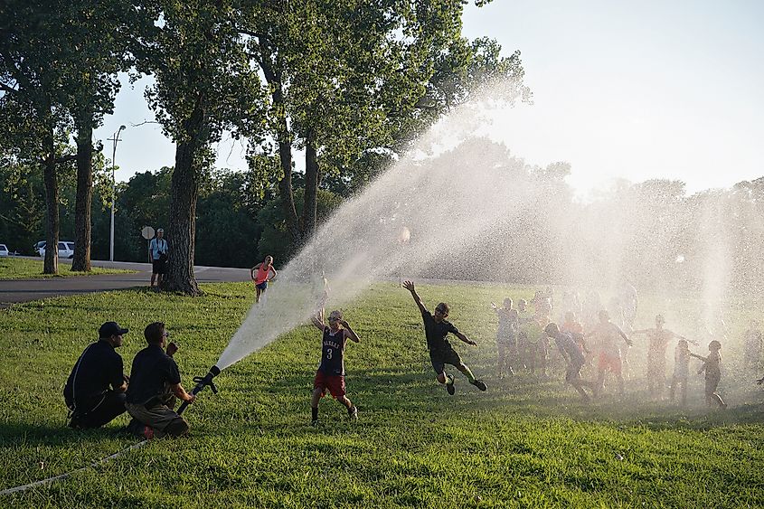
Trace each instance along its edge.
{"label": "thick tree trunk beside the standing man in light blue shirt", "polygon": [[201,99],[186,122],[186,141],[175,148],[175,168],[170,184],[169,259],[162,287],[186,295],[202,295],[193,276],[196,243],[196,200],[199,196],[197,150],[203,146],[204,110]]}

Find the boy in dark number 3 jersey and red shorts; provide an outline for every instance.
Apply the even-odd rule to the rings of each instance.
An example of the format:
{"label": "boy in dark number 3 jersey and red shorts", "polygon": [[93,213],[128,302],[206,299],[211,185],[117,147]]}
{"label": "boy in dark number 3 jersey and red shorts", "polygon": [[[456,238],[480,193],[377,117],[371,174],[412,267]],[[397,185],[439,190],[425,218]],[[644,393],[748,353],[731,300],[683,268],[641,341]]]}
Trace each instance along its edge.
{"label": "boy in dark number 3 jersey and red shorts", "polygon": [[350,339],[359,343],[361,339],[354,330],[343,320],[341,311],[332,311],[329,315],[329,325],[324,324],[324,309],[312,317],[313,325],[324,335],[321,338],[321,364],[313,381],[313,398],[310,401],[311,426],[318,424],[318,401],[325,396],[326,391],[332,394],[336,401],[341,402],[347,409],[350,419],[358,419],[358,409],[347,399],[344,385],[344,346]]}

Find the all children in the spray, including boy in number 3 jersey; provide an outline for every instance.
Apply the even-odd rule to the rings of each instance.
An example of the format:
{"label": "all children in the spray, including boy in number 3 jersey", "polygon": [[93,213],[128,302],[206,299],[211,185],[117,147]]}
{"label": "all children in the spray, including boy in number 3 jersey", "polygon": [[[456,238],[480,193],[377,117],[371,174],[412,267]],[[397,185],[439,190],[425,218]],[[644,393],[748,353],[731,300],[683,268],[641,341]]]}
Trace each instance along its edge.
{"label": "all children in the spray, including boy in number 3 jersey", "polygon": [[[414,283],[405,281],[402,285],[410,291],[415,304],[422,316],[425,337],[429,350],[429,360],[432,364],[436,379],[443,384],[448,394],[454,394],[456,387],[454,376],[446,372],[446,365],[454,366],[462,372],[469,383],[480,391],[486,391],[486,382],[475,377],[460,355],[448,342],[448,334],[455,335],[466,344],[476,345],[475,341],[458,331],[457,327],[446,319],[449,307],[439,303],[433,313],[430,313],[417,294]],[[333,311],[324,321],[324,306],[328,293],[316,308],[313,324],[322,331],[321,364],[316,372],[314,391],[311,401],[313,425],[318,418],[318,403],[326,392],[340,401],[352,419],[357,418],[358,410],[347,399],[344,382],[344,347],[347,340],[360,342],[359,336],[344,321],[340,311]],[[551,288],[537,291],[530,306],[527,301],[520,299],[517,307],[511,298],[505,298],[502,306],[491,303],[498,317],[496,332],[496,347],[498,352],[498,374],[500,377],[513,375],[519,370],[538,372],[546,376],[552,364],[552,344],[559,352],[559,358],[565,363],[565,382],[579,392],[584,401],[598,398],[604,390],[605,379],[612,373],[618,382],[618,391],[624,394],[624,368],[627,366],[628,348],[633,345],[632,337],[644,335],[647,339],[647,387],[651,397],[661,400],[666,388],[666,351],[674,340],[674,372],[668,385],[671,401],[679,397],[682,405],[687,401],[687,381],[690,373],[692,358],[703,362],[698,374],[705,376],[705,399],[709,405],[726,408],[727,404],[717,392],[722,378],[722,343],[713,339],[708,344],[709,354],[706,356],[692,353],[690,344],[698,346],[696,341],[674,333],[665,327],[665,317],[656,316],[654,327],[634,330],[633,322],[637,316],[637,290],[625,285],[618,297],[611,299],[608,309],[599,309],[599,296],[591,293],[583,302],[576,293],[566,293],[562,298],[564,312],[558,323],[552,322],[554,312]],[[533,308],[533,309],[532,309]],[[578,313],[586,316],[582,323]],[[611,313],[617,316],[612,319]],[[596,316],[596,320],[593,316]],[[617,323],[618,322],[618,323]],[[624,331],[627,329],[627,332]],[[762,338],[760,333],[747,333],[747,355],[753,356],[754,350],[760,353]],[[758,349],[758,350],[757,350]],[[581,370],[591,366],[593,380],[584,380]],[[764,383],[762,377],[759,383]],[[588,392],[588,391],[589,392]]]}

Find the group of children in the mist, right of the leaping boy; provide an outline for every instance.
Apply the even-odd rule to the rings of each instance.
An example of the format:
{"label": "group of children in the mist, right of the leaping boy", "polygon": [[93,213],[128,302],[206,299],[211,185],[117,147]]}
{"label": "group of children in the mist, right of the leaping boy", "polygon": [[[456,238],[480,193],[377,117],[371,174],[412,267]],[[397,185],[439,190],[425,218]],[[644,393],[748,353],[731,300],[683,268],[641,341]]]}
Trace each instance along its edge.
{"label": "group of children in the mist, right of the leaping boy", "polygon": [[[611,299],[609,309],[600,309],[597,312],[596,322],[592,317],[593,306],[599,303],[599,296],[595,293],[590,293],[585,303],[580,303],[577,293],[566,293],[562,300],[565,310],[561,325],[553,323],[551,319],[553,300],[550,290],[536,292],[532,300],[535,308],[533,313],[527,310],[524,300],[520,300],[517,309],[514,309],[511,298],[506,298],[502,307],[491,303],[498,316],[496,347],[499,376],[504,376],[506,372],[514,374],[518,368],[535,372],[539,367],[542,375],[545,375],[551,352],[549,340],[552,339],[567,366],[566,382],[571,383],[585,401],[590,401],[590,394],[585,391],[586,388],[590,389],[591,396],[599,396],[608,372],[616,377],[618,391],[623,395],[627,352],[633,345],[632,339],[624,332],[624,328],[627,328],[632,337],[646,335],[646,379],[648,391],[653,399],[660,400],[664,396],[666,349],[672,341],[677,340],[674,349],[674,373],[669,386],[671,400],[674,401],[678,392],[682,404],[686,404],[690,359],[694,357],[703,361],[698,373],[705,374],[706,401],[709,405],[727,407],[717,392],[722,376],[722,344],[718,340],[712,340],[708,345],[707,356],[691,353],[689,344],[698,343],[665,328],[665,318],[662,315],[656,316],[655,327],[634,330],[632,325],[637,314],[637,293],[630,285],[620,296]],[[587,316],[586,327],[578,320],[575,308]],[[611,320],[611,312],[618,316],[618,324]],[[753,332],[747,334],[752,338],[749,343],[761,344],[760,333],[758,336]],[[750,346],[750,350],[754,349],[755,345]],[[753,353],[750,356],[752,357]],[[584,381],[581,378],[580,370],[588,364],[596,372],[594,381]],[[764,378],[761,379],[761,383],[764,383]]]}

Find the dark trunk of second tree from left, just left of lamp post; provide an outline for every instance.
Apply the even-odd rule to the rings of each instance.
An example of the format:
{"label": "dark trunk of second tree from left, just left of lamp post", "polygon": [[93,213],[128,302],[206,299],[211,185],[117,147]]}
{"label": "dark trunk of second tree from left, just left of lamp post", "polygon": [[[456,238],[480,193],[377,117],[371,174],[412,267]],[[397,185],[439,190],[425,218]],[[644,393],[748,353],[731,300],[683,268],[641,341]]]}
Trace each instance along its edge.
{"label": "dark trunk of second tree from left, just left of lamp post", "polygon": [[90,203],[93,200],[93,127],[89,119],[77,126],[77,201],[74,216],[74,259],[71,269],[90,271]]}

